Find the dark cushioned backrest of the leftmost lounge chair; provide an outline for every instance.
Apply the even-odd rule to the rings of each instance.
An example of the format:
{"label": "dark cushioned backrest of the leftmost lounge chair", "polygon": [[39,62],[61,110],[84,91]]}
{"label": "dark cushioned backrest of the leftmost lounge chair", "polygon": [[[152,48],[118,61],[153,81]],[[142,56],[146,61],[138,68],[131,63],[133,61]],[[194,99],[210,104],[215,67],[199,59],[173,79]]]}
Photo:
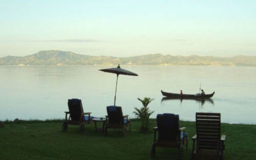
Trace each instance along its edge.
{"label": "dark cushioned backrest of the leftmost lounge chair", "polygon": [[[72,121],[80,121],[81,113],[84,112],[82,101],[80,99],[69,99],[68,109],[70,112],[70,118]],[[82,122],[84,122],[84,116],[82,116]]]}

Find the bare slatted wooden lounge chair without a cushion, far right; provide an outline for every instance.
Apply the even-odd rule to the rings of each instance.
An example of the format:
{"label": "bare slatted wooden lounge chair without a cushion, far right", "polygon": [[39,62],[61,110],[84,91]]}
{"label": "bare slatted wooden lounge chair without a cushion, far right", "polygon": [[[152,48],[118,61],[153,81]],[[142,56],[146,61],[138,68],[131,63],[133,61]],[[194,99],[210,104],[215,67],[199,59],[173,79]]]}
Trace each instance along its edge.
{"label": "bare slatted wooden lounge chair without a cushion, far right", "polygon": [[225,138],[226,135],[220,136],[220,113],[196,113],[191,159],[223,160]]}

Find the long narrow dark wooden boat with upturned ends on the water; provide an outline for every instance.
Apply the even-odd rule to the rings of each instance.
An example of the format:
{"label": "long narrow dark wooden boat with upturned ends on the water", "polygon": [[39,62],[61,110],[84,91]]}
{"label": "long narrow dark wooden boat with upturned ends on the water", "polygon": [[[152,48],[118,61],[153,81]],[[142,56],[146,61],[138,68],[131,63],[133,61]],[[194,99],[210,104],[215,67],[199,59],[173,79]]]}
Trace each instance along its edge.
{"label": "long narrow dark wooden boat with upturned ends on the water", "polygon": [[180,99],[208,99],[212,98],[215,92],[212,94],[206,94],[206,95],[200,95],[200,94],[177,94],[177,93],[169,93],[169,92],[164,92],[162,91],[162,95],[166,97],[171,97],[171,98],[180,98]]}

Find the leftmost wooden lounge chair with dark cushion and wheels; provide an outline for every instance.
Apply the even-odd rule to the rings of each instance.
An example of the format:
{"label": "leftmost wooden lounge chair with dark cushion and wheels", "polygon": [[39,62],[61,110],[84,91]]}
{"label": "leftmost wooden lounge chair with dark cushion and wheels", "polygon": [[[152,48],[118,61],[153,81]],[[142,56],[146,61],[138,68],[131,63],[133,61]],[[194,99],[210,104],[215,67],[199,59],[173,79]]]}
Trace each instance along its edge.
{"label": "leftmost wooden lounge chair with dark cushion and wheels", "polygon": [[[89,124],[92,117],[92,112],[84,112],[82,101],[79,99],[68,100],[69,112],[65,112],[65,121],[62,124],[62,131],[68,130],[68,124],[79,125],[80,131],[84,132],[84,124]],[[69,117],[68,117],[69,114]],[[88,115],[88,116],[85,116]]]}

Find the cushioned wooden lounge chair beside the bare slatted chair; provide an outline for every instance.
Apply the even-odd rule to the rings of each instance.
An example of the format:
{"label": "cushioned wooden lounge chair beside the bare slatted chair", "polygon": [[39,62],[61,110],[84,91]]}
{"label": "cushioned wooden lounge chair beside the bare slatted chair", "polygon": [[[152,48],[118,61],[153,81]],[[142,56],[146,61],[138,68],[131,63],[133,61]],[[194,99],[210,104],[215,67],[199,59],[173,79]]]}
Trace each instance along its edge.
{"label": "cushioned wooden lounge chair beside the bare slatted chair", "polygon": [[[150,156],[155,157],[156,147],[178,148],[179,158],[182,157],[183,145],[186,141],[188,148],[188,135],[185,133],[186,127],[180,128],[179,115],[175,114],[158,114],[156,116],[157,127],[154,130],[154,142],[151,147]],[[158,139],[156,140],[156,132],[158,131]]]}

